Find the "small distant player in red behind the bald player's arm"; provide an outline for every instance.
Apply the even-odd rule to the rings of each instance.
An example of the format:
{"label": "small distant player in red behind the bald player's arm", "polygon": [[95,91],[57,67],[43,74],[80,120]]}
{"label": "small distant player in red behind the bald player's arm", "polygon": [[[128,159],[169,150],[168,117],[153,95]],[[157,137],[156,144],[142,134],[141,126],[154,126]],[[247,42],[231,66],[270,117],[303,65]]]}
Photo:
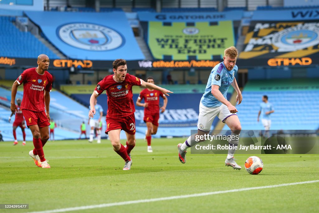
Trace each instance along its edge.
{"label": "small distant player in red behind the bald player's arm", "polygon": [[[11,121],[11,117],[14,113],[12,112],[10,117],[9,117],[9,122]],[[13,122],[13,137],[14,137],[14,143],[13,145],[17,145],[18,141],[17,141],[17,134],[16,134],[16,129],[18,126],[20,126],[21,130],[22,130],[22,135],[23,135],[23,142],[22,142],[22,146],[26,145],[26,132],[24,131],[24,129],[26,128],[26,124],[25,124],[25,120],[23,118],[22,115],[22,110],[21,110],[21,99],[17,98],[17,105],[16,105],[16,111],[15,111],[15,119]]]}

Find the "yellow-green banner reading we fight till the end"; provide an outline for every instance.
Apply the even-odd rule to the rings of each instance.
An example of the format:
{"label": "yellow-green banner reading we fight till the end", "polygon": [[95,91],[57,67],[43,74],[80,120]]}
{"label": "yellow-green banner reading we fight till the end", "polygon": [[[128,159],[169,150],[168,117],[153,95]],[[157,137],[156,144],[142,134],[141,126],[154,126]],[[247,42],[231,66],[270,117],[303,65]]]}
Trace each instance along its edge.
{"label": "yellow-green banner reading we fight till the end", "polygon": [[234,40],[233,21],[148,22],[147,43],[155,59],[219,60]]}

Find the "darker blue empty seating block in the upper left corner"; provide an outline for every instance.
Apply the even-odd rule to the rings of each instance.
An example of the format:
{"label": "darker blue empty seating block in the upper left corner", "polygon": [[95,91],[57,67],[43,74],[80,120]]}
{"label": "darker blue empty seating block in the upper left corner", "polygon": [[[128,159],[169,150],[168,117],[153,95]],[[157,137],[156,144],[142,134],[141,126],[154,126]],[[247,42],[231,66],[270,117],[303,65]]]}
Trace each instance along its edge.
{"label": "darker blue empty seating block in the upper left corner", "polygon": [[6,57],[36,58],[40,53],[59,58],[30,32],[21,32],[12,22],[15,17],[0,16],[0,55]]}

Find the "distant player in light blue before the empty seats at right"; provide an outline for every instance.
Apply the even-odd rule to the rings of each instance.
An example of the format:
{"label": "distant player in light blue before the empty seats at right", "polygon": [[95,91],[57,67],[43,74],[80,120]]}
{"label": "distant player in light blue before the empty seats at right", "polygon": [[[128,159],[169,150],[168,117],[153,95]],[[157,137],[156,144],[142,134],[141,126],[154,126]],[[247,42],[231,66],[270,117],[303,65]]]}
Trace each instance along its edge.
{"label": "distant player in light blue before the empty seats at right", "polygon": [[270,114],[274,113],[275,110],[272,107],[272,104],[268,102],[268,96],[263,95],[262,103],[260,103],[260,110],[258,112],[257,122],[259,122],[259,116],[262,114],[261,122],[263,127],[265,128],[265,132],[263,133],[264,137],[269,137],[269,130],[271,126]]}

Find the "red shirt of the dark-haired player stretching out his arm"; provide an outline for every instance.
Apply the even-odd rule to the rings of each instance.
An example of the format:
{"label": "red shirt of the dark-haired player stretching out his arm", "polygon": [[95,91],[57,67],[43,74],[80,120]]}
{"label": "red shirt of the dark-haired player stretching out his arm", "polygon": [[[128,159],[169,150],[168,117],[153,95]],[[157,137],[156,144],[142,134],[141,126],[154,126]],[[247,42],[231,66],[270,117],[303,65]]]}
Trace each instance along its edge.
{"label": "red shirt of the dark-haired player stretching out his arm", "polygon": [[94,91],[97,95],[102,94],[106,90],[108,95],[108,112],[107,118],[123,118],[130,116],[135,112],[133,102],[133,86],[141,86],[142,81],[129,73],[126,74],[125,80],[116,82],[113,75],[106,76],[95,87]]}

